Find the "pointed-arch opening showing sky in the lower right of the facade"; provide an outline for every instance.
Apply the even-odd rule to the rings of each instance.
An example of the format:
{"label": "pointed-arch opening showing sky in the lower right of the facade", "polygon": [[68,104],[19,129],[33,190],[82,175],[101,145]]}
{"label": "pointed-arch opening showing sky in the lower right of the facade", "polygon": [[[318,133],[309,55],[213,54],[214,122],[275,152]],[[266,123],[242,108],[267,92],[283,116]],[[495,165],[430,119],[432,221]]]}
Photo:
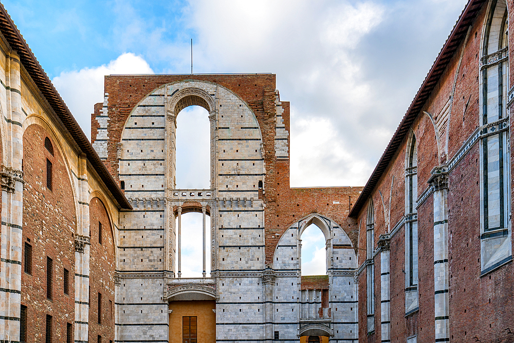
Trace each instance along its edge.
{"label": "pointed-arch opening showing sky in the lower right of the facade", "polygon": [[310,224],[301,239],[301,275],[326,275],[326,241],[321,229]]}

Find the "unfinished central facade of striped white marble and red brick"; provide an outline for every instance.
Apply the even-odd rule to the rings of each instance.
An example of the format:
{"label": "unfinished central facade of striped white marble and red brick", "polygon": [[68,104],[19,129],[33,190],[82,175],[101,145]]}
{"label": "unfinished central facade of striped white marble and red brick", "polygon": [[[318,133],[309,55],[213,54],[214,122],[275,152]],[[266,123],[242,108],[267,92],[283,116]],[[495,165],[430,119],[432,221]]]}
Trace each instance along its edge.
{"label": "unfinished central facade of striped white marble and red brick", "polygon": [[[119,227],[117,339],[181,335],[175,324],[168,331],[180,320],[167,304],[173,310],[186,299],[216,300],[217,340],[297,340],[316,325],[325,335],[356,339],[355,244],[348,238],[356,232],[347,213],[360,188],[290,189],[289,104],[274,87],[274,75],[105,78],[93,144],[106,152],[102,158],[134,207],[122,212]],[[209,189],[175,187],[176,117],[189,105],[209,113]],[[176,223],[188,211],[210,215],[210,278],[181,275],[175,246],[185,233]],[[312,213],[328,223],[337,311],[302,322],[309,318],[300,316],[298,228]]]}

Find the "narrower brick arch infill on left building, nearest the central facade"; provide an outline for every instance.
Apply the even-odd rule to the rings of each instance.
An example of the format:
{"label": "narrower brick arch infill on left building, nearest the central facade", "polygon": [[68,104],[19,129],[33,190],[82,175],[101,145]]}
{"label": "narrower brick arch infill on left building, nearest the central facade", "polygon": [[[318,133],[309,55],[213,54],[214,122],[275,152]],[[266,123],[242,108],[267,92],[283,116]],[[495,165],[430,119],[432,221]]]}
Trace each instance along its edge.
{"label": "narrower brick arch infill on left building, nearest the central facade", "polygon": [[[101,243],[99,239],[100,224],[102,224]],[[89,227],[89,335],[91,337],[100,335],[105,341],[114,340],[116,241],[107,207],[98,196],[89,201]],[[100,323],[98,322],[99,293],[102,295]]]}

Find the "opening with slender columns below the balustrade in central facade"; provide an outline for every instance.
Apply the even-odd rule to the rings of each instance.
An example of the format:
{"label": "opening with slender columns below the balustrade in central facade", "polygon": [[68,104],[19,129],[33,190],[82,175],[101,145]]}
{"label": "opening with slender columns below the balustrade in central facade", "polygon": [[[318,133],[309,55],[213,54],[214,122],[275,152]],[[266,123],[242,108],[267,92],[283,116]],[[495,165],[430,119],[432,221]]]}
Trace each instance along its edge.
{"label": "opening with slender columns below the balustrade in central facade", "polygon": [[[177,228],[177,239],[175,251],[177,251],[176,269],[180,271],[182,278],[201,278],[203,277],[203,213],[187,212],[180,214],[181,216],[181,247],[180,257],[181,265],[178,265],[178,218],[176,219],[175,227]],[[206,242],[205,242],[205,256],[206,256],[206,276],[210,277],[211,273],[211,221],[208,214],[206,214],[205,221]]]}

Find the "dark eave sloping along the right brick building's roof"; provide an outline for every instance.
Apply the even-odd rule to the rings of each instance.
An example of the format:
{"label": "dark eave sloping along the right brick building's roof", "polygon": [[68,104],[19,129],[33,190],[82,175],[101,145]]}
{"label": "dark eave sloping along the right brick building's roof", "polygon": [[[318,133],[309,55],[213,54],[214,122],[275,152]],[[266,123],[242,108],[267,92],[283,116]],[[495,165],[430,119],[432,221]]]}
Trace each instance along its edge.
{"label": "dark eave sloping along the right brick building's roof", "polygon": [[457,23],[453,27],[448,39],[446,40],[445,45],[439,52],[437,59],[435,60],[432,68],[430,69],[425,81],[421,84],[414,100],[412,101],[409,109],[403,119],[401,120],[396,132],[393,135],[393,138],[389,141],[389,144],[386,148],[386,151],[380,157],[375,170],[371,174],[371,177],[364,186],[362,193],[357,199],[355,205],[350,212],[350,216],[355,218],[366,201],[368,197],[371,195],[376,185],[378,184],[382,174],[389,166],[389,163],[393,159],[393,156],[396,153],[396,150],[400,146],[403,138],[408,134],[409,129],[413,123],[413,121],[418,116],[419,112],[425,105],[427,99],[432,94],[435,86],[439,82],[439,78],[443,75],[448,64],[450,63],[454,53],[456,52],[458,46],[461,45],[462,41],[466,37],[466,33],[469,27],[472,25],[473,20],[476,17],[476,14],[482,9],[482,6],[486,3],[486,0],[470,0],[460,17],[457,20]]}

